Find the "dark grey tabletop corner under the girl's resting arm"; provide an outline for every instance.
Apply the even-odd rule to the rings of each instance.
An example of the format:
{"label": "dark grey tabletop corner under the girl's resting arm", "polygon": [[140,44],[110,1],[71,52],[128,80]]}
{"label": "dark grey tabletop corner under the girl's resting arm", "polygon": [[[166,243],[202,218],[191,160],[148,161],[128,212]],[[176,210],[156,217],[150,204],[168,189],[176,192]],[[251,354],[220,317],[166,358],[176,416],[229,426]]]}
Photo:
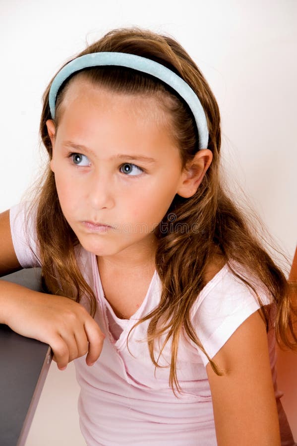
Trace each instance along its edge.
{"label": "dark grey tabletop corner under the girl's resting arm", "polygon": [[[41,270],[25,269],[0,278],[41,291]],[[25,445],[52,361],[48,344],[0,324],[0,445]]]}

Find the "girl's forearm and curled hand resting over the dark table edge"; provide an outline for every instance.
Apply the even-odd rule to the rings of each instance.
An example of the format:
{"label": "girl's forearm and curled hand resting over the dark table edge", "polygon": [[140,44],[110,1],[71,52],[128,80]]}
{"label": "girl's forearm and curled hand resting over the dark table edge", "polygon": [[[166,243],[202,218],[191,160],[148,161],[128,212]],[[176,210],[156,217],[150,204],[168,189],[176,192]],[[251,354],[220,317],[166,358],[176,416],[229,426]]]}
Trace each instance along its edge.
{"label": "girl's forearm and curled hand resting over the dark table edge", "polygon": [[81,304],[1,282],[2,298],[6,296],[3,322],[20,335],[50,344],[60,370],[86,353],[87,365],[99,358],[105,335]]}

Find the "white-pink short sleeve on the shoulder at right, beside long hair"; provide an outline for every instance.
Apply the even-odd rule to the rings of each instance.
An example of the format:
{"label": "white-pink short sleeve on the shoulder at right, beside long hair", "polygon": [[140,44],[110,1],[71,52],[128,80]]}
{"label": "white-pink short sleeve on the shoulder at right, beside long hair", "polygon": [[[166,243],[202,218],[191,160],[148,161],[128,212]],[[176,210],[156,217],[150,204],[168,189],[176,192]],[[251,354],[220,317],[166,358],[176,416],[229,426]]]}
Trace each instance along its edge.
{"label": "white-pink short sleeve on the shoulder at right, beside long hair", "polygon": [[[270,304],[269,293],[265,293],[263,286],[250,281],[262,304]],[[259,308],[256,294],[226,264],[202,289],[193,307],[192,324],[209,357],[213,358],[238,327]],[[199,354],[206,366],[209,362],[207,356],[200,349]]]}

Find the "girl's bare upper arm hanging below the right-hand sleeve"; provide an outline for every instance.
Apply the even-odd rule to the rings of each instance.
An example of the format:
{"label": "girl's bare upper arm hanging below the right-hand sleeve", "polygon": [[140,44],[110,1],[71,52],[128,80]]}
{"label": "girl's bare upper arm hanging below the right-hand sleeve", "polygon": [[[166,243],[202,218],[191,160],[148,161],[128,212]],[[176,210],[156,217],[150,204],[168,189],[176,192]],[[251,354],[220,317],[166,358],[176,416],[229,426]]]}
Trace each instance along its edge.
{"label": "girl's bare upper arm hanging below the right-hand sleeve", "polygon": [[249,316],[214,356],[210,384],[218,446],[280,446],[280,430],[266,326],[259,310]]}

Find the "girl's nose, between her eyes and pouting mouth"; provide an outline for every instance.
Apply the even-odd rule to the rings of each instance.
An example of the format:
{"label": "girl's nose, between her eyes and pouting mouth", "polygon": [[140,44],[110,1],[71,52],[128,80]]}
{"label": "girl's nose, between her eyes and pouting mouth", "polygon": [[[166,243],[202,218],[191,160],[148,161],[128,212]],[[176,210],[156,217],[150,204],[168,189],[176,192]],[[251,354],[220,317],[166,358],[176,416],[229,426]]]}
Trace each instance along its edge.
{"label": "girl's nose, between her eyes and pouting mouth", "polygon": [[95,210],[111,209],[115,205],[112,179],[95,170],[88,179],[88,201],[91,207]]}

